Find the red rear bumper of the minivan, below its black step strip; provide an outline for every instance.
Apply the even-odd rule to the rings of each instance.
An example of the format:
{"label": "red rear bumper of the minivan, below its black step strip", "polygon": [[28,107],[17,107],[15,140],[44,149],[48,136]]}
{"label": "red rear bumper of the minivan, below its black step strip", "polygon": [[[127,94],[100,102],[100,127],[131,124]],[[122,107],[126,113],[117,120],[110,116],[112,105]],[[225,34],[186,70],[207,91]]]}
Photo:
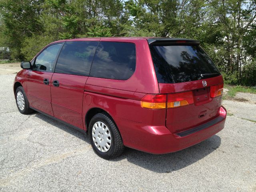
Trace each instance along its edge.
{"label": "red rear bumper of the minivan, below its black step strip", "polygon": [[124,138],[124,145],[144,152],[164,154],[188,148],[218,133],[224,128],[226,118],[226,110],[223,107],[220,108],[220,112],[224,120],[184,137],[172,134],[166,126],[149,126],[120,118],[116,118],[115,122],[122,125],[123,132],[120,132]]}

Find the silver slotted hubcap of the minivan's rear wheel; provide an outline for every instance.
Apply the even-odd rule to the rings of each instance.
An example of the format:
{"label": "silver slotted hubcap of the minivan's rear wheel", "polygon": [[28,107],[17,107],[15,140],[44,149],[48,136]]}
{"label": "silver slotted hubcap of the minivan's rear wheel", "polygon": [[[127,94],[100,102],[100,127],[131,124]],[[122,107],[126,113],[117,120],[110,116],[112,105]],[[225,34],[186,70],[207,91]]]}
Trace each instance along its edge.
{"label": "silver slotted hubcap of the minivan's rear wheel", "polygon": [[92,140],[98,150],[107,152],[111,146],[111,135],[103,122],[96,122],[92,127]]}

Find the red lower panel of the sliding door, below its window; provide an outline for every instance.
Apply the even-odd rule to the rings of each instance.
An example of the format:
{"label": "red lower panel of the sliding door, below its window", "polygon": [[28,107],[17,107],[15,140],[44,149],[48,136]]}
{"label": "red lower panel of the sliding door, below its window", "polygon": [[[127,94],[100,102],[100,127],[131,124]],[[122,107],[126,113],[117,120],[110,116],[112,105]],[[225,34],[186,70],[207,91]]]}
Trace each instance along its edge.
{"label": "red lower panel of the sliding door, below its window", "polygon": [[51,84],[57,80],[60,86],[51,85],[52,110],[54,117],[84,129],[82,103],[84,85],[88,77],[54,73]]}

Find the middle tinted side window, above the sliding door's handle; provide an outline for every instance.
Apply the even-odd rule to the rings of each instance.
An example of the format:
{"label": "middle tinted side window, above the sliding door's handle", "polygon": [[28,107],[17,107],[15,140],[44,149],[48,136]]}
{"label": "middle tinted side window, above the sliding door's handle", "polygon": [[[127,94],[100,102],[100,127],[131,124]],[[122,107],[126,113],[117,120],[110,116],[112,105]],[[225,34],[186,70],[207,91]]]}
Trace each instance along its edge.
{"label": "middle tinted side window, above the sliding door's handle", "polygon": [[97,41],[66,42],[60,52],[55,73],[89,76]]}

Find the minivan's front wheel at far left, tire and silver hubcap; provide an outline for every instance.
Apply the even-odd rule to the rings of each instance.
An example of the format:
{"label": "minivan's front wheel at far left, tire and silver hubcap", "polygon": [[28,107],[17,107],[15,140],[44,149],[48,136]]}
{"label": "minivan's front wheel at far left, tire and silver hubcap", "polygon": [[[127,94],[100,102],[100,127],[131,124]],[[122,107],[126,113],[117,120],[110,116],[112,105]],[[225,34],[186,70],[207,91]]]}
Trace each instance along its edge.
{"label": "minivan's front wheel at far left, tire and silver hubcap", "polygon": [[28,98],[27,98],[22,86],[19,86],[16,89],[15,99],[16,99],[16,104],[17,104],[17,107],[18,107],[18,110],[20,111],[20,113],[30,114],[33,112],[33,110],[29,108]]}

